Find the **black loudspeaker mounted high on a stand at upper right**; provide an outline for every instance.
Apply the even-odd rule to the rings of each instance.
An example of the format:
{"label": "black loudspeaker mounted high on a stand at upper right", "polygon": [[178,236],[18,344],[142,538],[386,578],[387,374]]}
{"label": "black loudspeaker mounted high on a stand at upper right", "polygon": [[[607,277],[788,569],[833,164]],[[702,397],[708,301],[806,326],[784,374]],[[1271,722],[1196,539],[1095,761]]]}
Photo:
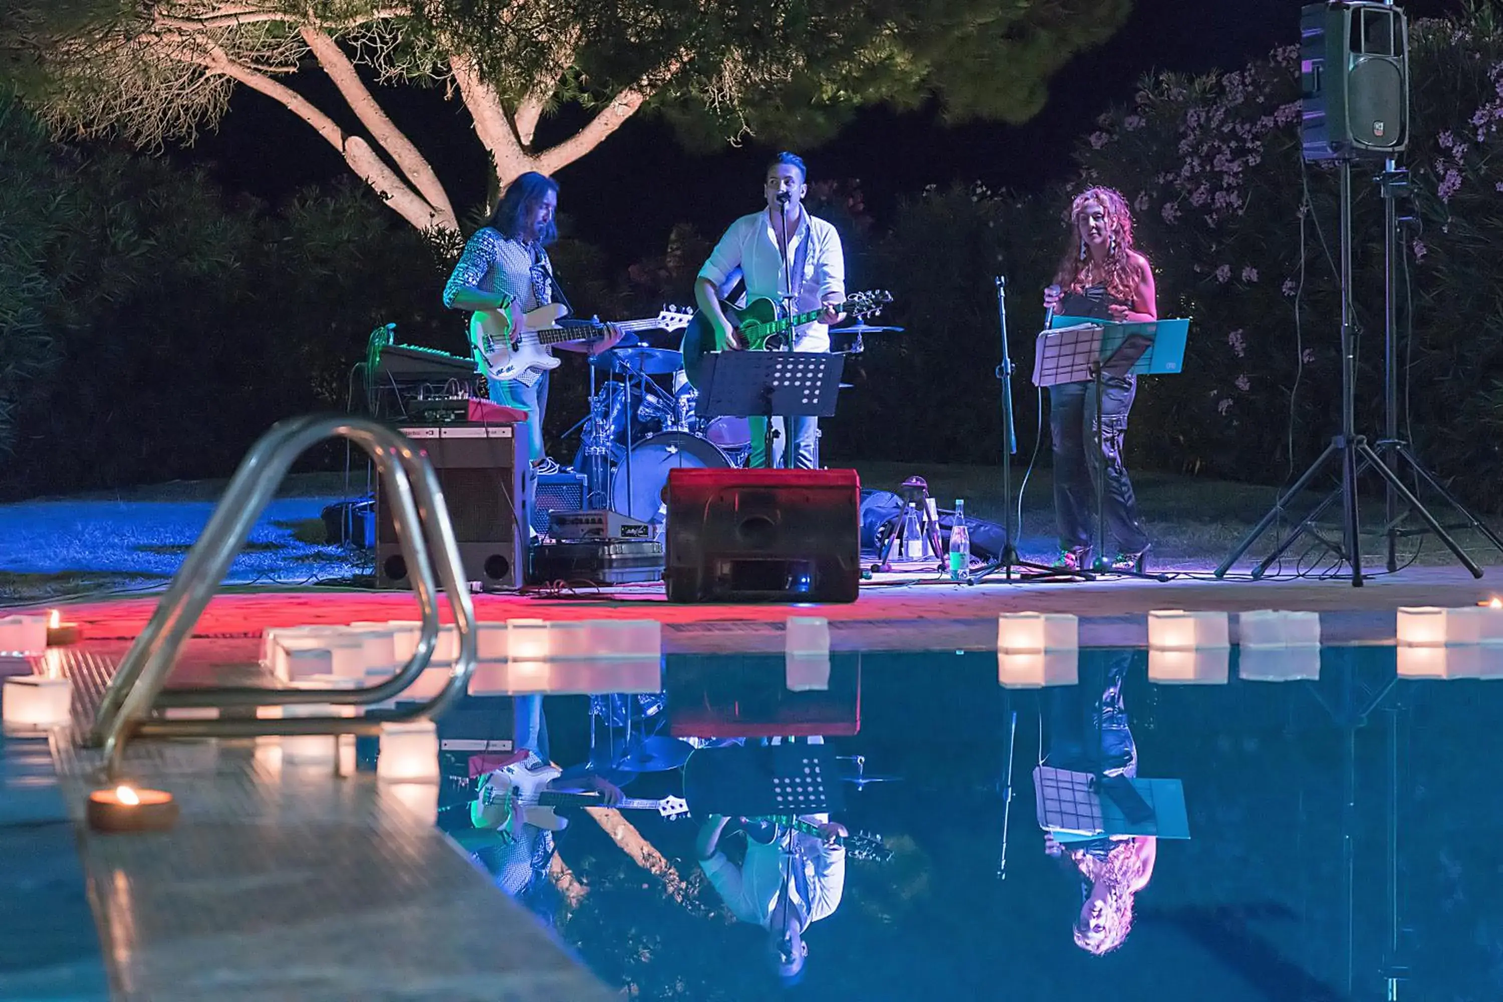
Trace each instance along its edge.
{"label": "black loudspeaker mounted high on a stand at upper right", "polygon": [[1408,23],[1384,3],[1302,8],[1305,159],[1387,158],[1408,144]]}

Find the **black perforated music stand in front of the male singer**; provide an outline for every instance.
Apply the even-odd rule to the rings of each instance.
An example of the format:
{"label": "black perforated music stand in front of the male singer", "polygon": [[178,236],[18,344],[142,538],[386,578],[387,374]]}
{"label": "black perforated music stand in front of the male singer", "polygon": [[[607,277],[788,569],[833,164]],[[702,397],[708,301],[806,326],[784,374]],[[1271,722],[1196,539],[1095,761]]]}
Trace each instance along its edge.
{"label": "black perforated music stand in front of the male singer", "polygon": [[[833,418],[843,370],[845,356],[828,352],[711,352],[694,407],[703,418],[767,418],[771,466],[773,418]],[[795,445],[785,443],[785,469],[794,467]]]}

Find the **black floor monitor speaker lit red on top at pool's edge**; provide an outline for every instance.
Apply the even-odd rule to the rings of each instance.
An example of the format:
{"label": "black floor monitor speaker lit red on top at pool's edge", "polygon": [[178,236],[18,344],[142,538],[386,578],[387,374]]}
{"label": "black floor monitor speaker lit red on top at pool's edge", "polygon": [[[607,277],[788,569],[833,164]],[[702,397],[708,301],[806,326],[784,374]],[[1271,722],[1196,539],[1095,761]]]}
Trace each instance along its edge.
{"label": "black floor monitor speaker lit red on top at pool's edge", "polygon": [[669,470],[670,602],[854,602],[855,470]]}

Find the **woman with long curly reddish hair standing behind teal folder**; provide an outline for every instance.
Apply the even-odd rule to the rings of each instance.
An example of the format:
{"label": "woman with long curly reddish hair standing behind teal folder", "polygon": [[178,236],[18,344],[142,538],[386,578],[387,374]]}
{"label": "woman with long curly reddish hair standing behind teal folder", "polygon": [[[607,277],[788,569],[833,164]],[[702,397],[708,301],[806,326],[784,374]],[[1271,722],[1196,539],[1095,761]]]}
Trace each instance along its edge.
{"label": "woman with long curly reddish hair standing behind teal folder", "polygon": [[[1133,246],[1132,212],[1112,188],[1087,188],[1070,204],[1070,236],[1054,281],[1045,290],[1043,305],[1060,315],[1115,321],[1159,318],[1153,266]],[[1138,521],[1132,481],[1123,466],[1127,413],[1136,394],[1136,376],[1103,379],[1100,466],[1106,473],[1106,527],[1117,544],[1111,566],[1117,569],[1141,569],[1150,548]],[[1097,457],[1091,455],[1096,449],[1093,383],[1049,388],[1049,431],[1054,439],[1054,506],[1060,530],[1057,565],[1088,568],[1097,476]],[[1102,545],[1109,545],[1109,541],[1103,539]]]}

